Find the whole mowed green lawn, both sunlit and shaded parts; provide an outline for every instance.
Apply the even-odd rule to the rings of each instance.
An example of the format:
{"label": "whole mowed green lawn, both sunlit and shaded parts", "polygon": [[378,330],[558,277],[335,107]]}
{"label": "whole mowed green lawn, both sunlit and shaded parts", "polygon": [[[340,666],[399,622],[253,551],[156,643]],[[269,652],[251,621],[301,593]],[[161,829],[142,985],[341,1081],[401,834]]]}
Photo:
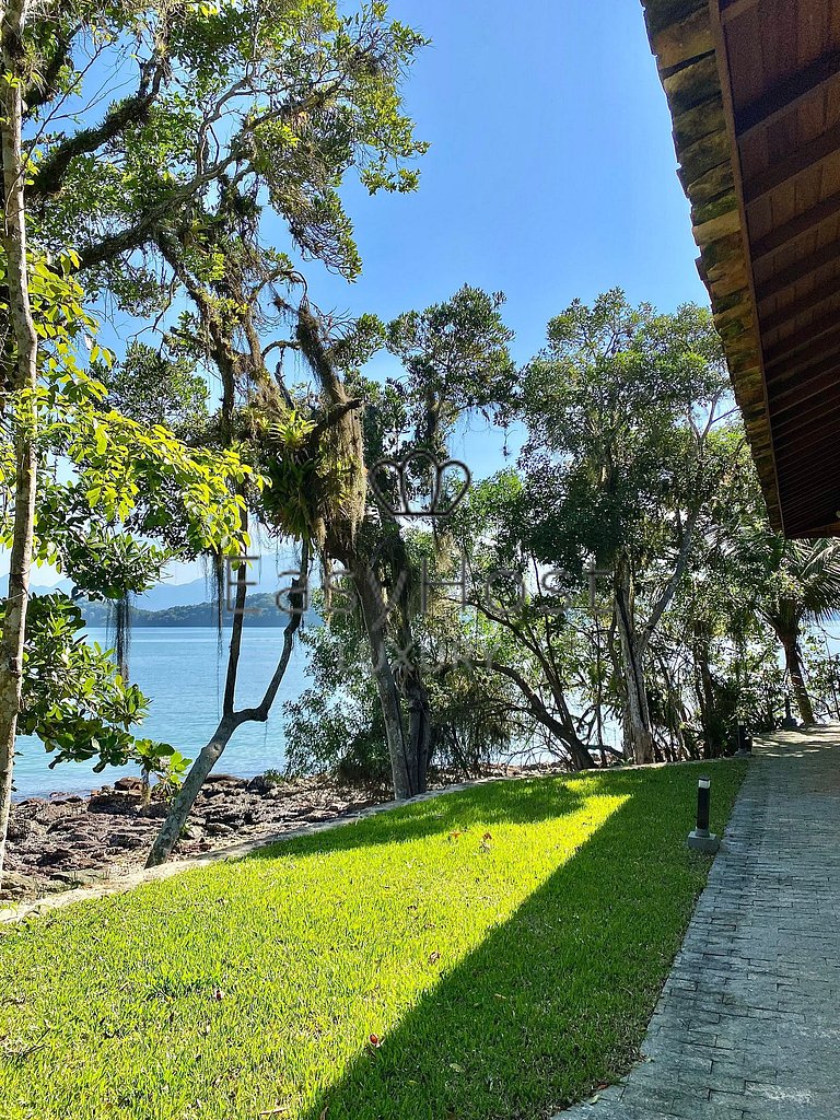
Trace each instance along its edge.
{"label": "whole mowed green lawn, both sunlit and shaded parts", "polygon": [[[744,766],[702,772],[719,831]],[[0,1117],[548,1117],[636,1053],[700,773],[484,785],[2,928]]]}

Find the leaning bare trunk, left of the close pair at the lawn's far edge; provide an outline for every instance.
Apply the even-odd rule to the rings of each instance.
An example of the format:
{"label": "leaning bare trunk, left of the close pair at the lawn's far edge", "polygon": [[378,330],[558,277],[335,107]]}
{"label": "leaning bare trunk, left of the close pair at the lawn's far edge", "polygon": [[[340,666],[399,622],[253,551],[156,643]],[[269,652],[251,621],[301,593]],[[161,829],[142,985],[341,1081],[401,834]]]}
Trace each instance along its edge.
{"label": "leaning bare trunk, left of the close pair at the lawn's far edge", "polygon": [[[368,564],[354,557],[347,567],[362,607],[362,618],[371,650],[373,675],[376,681],[380,703],[382,704],[388,752],[391,757],[394,797],[398,801],[404,801],[420,793],[420,790],[416,785],[417,767],[412,767],[410,763],[410,749],[402,721],[400,693],[391,663],[388,660],[388,645],[385,643],[386,607],[382,598],[379,581]],[[413,781],[412,773],[414,775]]]}

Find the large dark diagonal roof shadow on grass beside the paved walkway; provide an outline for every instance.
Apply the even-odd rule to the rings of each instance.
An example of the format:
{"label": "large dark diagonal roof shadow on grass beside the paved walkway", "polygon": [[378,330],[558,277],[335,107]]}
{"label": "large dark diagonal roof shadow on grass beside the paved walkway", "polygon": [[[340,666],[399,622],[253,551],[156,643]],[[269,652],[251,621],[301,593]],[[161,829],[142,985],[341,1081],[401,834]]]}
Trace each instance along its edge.
{"label": "large dark diagonal roof shadow on grass beside the paved walkway", "polygon": [[[709,866],[684,847],[681,810],[685,802],[690,818],[693,781],[683,778],[678,791],[668,788],[671,776],[613,774],[603,787],[596,778],[587,794],[627,800],[445,972],[380,1047],[324,1090],[305,1120],[536,1120],[625,1070]],[[568,812],[582,800],[578,783],[569,786],[545,796],[523,790],[516,815]],[[515,812],[511,786],[501,788]],[[486,787],[450,808],[438,803],[444,815],[435,827],[467,819],[479,793]],[[676,812],[669,804],[674,794]],[[664,814],[663,797],[671,809]],[[488,819],[485,804],[480,814]],[[408,815],[394,822],[394,834],[431,824]],[[333,848],[366,838],[336,833],[320,842]]]}

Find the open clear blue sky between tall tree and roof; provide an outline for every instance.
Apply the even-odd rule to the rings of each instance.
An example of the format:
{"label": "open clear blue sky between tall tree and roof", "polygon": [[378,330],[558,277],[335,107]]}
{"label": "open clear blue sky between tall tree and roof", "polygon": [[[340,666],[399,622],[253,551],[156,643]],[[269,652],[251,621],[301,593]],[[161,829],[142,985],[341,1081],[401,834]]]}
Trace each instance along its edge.
{"label": "open clear blue sky between tall tree and roof", "polygon": [[393,0],[432,45],[405,85],[431,142],[410,196],[346,194],[364,274],[323,307],[390,317],[468,282],[507,295],[521,361],[575,297],[706,301],[637,0]]}

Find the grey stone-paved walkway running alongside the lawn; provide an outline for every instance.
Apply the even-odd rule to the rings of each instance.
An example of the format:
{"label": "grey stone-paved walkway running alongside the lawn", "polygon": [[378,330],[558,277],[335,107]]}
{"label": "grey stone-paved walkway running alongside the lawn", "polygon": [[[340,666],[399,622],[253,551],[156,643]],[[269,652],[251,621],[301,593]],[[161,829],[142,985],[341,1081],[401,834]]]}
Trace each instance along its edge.
{"label": "grey stone-paved walkway running alongside the lawn", "polygon": [[756,746],[642,1049],[562,1120],[840,1120],[837,726]]}

